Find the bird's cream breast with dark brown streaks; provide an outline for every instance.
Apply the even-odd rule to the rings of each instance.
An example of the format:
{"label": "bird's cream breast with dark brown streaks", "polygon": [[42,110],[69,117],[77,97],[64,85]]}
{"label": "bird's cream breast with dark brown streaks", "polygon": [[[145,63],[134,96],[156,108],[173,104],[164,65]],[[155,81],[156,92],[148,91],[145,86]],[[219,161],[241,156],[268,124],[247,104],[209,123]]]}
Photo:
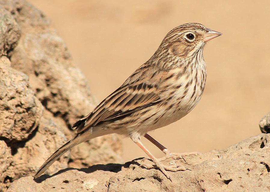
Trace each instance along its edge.
{"label": "bird's cream breast with dark brown streaks", "polygon": [[[182,75],[170,79],[164,89],[163,97],[167,114],[167,122],[175,122],[186,116],[200,101],[206,82],[206,68],[202,66],[187,68],[185,73],[183,69],[178,69]],[[174,73],[176,73],[174,71]],[[177,73],[176,73],[177,74]]]}

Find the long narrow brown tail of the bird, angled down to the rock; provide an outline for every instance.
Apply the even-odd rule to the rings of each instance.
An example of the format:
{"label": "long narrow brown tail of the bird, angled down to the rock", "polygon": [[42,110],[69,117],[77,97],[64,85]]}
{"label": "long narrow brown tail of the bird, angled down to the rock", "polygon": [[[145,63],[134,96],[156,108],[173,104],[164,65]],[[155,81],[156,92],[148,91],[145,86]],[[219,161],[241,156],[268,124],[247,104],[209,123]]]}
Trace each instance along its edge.
{"label": "long narrow brown tail of the bird, angled down to the rock", "polygon": [[34,179],[41,176],[41,174],[44,173],[44,171],[46,171],[48,169],[48,167],[50,167],[51,164],[53,164],[54,161],[56,161],[66,151],[68,151],[72,147],[74,147],[82,142],[84,142],[84,140],[82,140],[82,138],[79,135],[76,135],[73,139],[69,140],[66,144],[64,144],[62,147],[57,149],[57,151],[54,152],[54,154],[51,155],[51,157],[48,158],[47,161],[45,161],[45,163],[38,169],[37,173],[34,176]]}

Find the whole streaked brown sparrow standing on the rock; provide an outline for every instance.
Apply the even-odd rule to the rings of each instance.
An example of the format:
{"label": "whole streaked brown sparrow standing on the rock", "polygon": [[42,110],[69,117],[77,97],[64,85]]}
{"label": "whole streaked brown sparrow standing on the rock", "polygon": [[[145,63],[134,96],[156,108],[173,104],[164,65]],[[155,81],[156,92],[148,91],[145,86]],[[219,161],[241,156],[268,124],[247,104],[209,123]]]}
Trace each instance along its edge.
{"label": "whole streaked brown sparrow standing on the rock", "polygon": [[[130,137],[154,162],[141,164],[158,168],[168,179],[168,171],[184,171],[184,166],[167,166],[166,158],[180,159],[191,153],[172,153],[148,132],[162,128],[186,116],[199,102],[206,83],[203,49],[207,41],[222,33],[200,23],[186,23],[172,29],[152,57],[141,65],[112,94],[72,128],[76,135],[54,152],[36,172],[41,176],[51,164],[72,147],[107,134]],[[145,137],[164,154],[157,159],[141,142]]]}

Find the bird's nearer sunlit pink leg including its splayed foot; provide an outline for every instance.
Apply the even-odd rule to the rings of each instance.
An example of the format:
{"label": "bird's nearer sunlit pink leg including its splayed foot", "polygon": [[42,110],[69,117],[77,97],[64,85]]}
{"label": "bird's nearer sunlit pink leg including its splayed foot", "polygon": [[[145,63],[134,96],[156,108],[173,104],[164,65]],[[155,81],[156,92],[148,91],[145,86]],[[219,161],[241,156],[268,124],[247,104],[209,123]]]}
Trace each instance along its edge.
{"label": "bird's nearer sunlit pink leg including its splayed foot", "polygon": [[140,138],[133,140],[134,143],[136,143],[141,149],[143,149],[143,151],[152,159],[152,161],[155,163],[155,166],[153,165],[148,165],[148,164],[142,164],[140,165],[140,167],[145,167],[146,169],[152,169],[152,168],[158,168],[159,170],[161,170],[161,172],[172,181],[170,175],[167,173],[167,171],[185,171],[186,168],[184,166],[178,166],[178,165],[173,165],[173,166],[166,166],[164,164],[162,164],[157,158],[155,158],[154,155],[152,155],[148,149],[146,149],[146,147],[143,145],[143,143],[141,142]]}

